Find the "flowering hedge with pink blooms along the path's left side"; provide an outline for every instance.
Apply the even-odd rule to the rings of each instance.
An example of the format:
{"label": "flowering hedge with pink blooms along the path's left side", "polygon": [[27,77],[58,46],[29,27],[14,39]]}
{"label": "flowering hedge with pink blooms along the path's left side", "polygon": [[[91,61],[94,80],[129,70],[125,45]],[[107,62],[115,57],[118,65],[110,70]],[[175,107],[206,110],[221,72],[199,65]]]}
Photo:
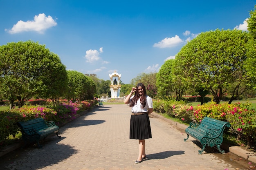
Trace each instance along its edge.
{"label": "flowering hedge with pink blooms along the path's left side", "polygon": [[9,136],[15,135],[19,128],[17,122],[41,117],[45,121],[55,121],[57,125],[75,119],[76,115],[94,106],[94,100],[82,102],[63,102],[56,107],[22,106],[11,110],[0,111],[0,144]]}

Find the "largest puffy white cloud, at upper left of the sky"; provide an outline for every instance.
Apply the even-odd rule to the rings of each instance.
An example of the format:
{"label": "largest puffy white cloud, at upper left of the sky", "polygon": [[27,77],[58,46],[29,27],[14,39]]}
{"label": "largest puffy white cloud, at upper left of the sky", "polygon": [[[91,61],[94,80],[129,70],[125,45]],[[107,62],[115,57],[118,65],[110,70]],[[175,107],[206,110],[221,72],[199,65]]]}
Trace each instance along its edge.
{"label": "largest puffy white cloud, at upper left of the sky", "polygon": [[40,13],[39,15],[34,16],[33,21],[24,22],[22,20],[18,21],[17,24],[13,25],[13,27],[9,29],[5,29],[8,33],[15,34],[23,31],[36,31],[38,33],[44,33],[46,29],[51,28],[52,26],[56,26],[57,22],[52,19],[50,15],[46,17],[44,13]]}

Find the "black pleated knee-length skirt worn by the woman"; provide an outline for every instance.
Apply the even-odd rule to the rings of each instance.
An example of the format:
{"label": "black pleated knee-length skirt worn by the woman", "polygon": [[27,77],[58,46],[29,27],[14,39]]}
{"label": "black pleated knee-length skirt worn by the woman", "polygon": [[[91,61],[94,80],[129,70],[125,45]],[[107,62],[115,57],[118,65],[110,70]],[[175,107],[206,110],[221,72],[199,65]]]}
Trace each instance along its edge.
{"label": "black pleated knee-length skirt worn by the woman", "polygon": [[143,140],[148,138],[152,138],[148,114],[131,115],[130,139]]}

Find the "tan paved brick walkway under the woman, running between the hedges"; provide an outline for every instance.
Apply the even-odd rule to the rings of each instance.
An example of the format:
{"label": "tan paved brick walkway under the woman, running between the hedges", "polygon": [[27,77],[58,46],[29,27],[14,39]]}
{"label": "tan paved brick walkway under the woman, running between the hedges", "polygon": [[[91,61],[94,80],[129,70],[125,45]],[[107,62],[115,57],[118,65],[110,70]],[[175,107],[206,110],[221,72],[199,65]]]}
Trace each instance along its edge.
{"label": "tan paved brick walkway under the woman, running between the hedges", "polygon": [[138,141],[129,139],[130,108],[125,104],[96,107],[60,128],[43,148],[19,151],[0,163],[2,170],[247,170],[220,153],[203,152],[192,137],[161,119],[150,117],[148,159],[135,164]]}

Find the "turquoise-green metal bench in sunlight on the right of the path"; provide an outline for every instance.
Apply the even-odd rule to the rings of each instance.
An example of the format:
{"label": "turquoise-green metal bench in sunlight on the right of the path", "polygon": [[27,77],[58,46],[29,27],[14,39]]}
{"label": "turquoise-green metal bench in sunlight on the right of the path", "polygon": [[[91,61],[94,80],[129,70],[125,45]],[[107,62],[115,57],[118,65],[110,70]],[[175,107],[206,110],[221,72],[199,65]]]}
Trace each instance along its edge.
{"label": "turquoise-green metal bench in sunlight on the right of the path", "polygon": [[189,135],[197,141],[200,141],[202,144],[202,150],[198,150],[199,154],[202,154],[206,145],[211,147],[217,146],[221,153],[225,153],[224,150],[220,149],[220,145],[223,141],[222,135],[225,127],[229,128],[230,126],[231,125],[228,122],[204,117],[204,119],[199,123],[191,122],[189,124],[189,127],[185,130],[187,138],[184,139],[184,141],[189,139]]}

